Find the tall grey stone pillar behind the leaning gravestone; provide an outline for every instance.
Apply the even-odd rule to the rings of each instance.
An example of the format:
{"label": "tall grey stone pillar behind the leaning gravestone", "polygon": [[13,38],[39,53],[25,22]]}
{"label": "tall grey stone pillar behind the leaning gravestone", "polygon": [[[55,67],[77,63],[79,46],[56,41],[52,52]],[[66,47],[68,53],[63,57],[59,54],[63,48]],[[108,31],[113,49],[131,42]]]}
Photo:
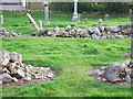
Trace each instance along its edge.
{"label": "tall grey stone pillar behind the leaning gravestone", "polygon": [[44,1],[44,24],[50,24],[49,22],[49,2]]}

